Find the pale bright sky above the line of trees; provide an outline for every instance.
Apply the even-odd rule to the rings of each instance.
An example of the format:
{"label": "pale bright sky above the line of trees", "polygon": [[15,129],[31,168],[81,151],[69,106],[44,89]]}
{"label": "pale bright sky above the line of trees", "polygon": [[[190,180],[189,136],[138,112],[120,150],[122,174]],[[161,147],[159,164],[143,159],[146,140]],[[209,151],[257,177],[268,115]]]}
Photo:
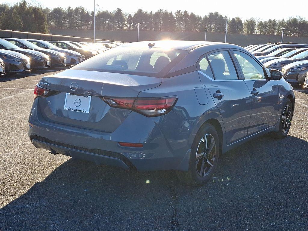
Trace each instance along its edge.
{"label": "pale bright sky above the line of trees", "polygon": [[[305,2],[302,0],[301,2]],[[1,3],[14,4],[18,0],[0,0]],[[28,2],[38,2],[43,7],[63,7],[67,8],[71,6],[75,8],[76,6],[84,6],[87,10],[94,9],[94,0],[78,1],[78,0],[28,0]],[[189,4],[188,4],[189,3]],[[233,18],[239,16],[242,19],[246,18],[258,18],[260,20],[268,19],[288,19],[290,17],[300,16],[307,19],[307,7],[298,7],[299,1],[296,7],[291,7],[292,2],[286,0],[216,0],[216,1],[206,1],[206,0],[116,0],[116,1],[106,1],[106,0],[96,0],[97,9],[99,10],[110,10],[113,11],[117,7],[121,8],[126,13],[133,14],[139,8],[144,11],[153,11],[163,9],[172,11],[176,10],[187,10],[189,13],[193,12],[201,17],[205,16],[209,12],[219,12],[223,16],[227,15],[228,18]],[[307,4],[307,3],[306,3]],[[287,7],[289,6],[289,7]],[[308,6],[308,5],[306,5]]]}

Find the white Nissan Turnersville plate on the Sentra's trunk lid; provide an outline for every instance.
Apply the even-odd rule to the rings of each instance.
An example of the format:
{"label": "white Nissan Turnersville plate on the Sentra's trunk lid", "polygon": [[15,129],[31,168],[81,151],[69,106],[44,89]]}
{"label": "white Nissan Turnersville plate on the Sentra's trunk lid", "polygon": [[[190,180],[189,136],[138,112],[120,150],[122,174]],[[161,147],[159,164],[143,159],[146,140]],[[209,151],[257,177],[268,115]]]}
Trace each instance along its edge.
{"label": "white Nissan Turnersville plate on the Sentra's trunk lid", "polygon": [[90,95],[72,95],[70,93],[66,93],[64,109],[69,111],[89,113],[90,103]]}

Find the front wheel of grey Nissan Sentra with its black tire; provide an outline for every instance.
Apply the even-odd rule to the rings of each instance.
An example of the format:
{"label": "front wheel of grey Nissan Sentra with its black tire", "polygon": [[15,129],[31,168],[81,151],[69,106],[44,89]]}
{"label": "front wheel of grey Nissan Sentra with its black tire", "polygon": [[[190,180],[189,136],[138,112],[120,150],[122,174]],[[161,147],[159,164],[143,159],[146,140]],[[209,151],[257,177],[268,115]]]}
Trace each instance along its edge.
{"label": "front wheel of grey Nissan Sentra with its black tire", "polygon": [[[287,116],[286,120],[284,120],[282,117],[285,116],[285,111],[288,110],[287,108],[290,108],[290,116]],[[283,139],[285,138],[291,127],[291,120],[293,117],[293,107],[290,99],[286,100],[286,103],[283,105],[281,114],[280,114],[280,120],[279,120],[279,130],[277,132],[270,132],[270,136],[274,139]],[[287,128],[286,128],[287,126]]]}

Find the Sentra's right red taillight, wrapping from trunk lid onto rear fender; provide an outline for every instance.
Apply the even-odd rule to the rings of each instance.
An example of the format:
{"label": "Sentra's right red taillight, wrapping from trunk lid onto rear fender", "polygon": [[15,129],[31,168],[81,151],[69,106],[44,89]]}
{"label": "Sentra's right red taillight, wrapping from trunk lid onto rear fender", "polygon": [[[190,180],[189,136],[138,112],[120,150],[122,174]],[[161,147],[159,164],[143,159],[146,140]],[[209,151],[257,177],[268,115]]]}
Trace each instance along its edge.
{"label": "Sentra's right red taillight, wrapping from trunk lid onto rear fender", "polygon": [[148,117],[167,114],[174,107],[177,97],[159,98],[124,98],[110,97],[103,98],[110,107],[130,109]]}

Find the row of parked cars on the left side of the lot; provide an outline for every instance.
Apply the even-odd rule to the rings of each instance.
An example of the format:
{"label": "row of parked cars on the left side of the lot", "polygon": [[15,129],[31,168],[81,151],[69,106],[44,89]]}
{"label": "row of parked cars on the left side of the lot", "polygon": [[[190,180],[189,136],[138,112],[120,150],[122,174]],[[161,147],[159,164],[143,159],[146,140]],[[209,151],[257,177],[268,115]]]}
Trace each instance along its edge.
{"label": "row of parked cars on the left side of the lot", "polygon": [[0,39],[0,75],[35,71],[51,66],[71,66],[120,42],[99,43],[72,41],[44,41],[39,39]]}

